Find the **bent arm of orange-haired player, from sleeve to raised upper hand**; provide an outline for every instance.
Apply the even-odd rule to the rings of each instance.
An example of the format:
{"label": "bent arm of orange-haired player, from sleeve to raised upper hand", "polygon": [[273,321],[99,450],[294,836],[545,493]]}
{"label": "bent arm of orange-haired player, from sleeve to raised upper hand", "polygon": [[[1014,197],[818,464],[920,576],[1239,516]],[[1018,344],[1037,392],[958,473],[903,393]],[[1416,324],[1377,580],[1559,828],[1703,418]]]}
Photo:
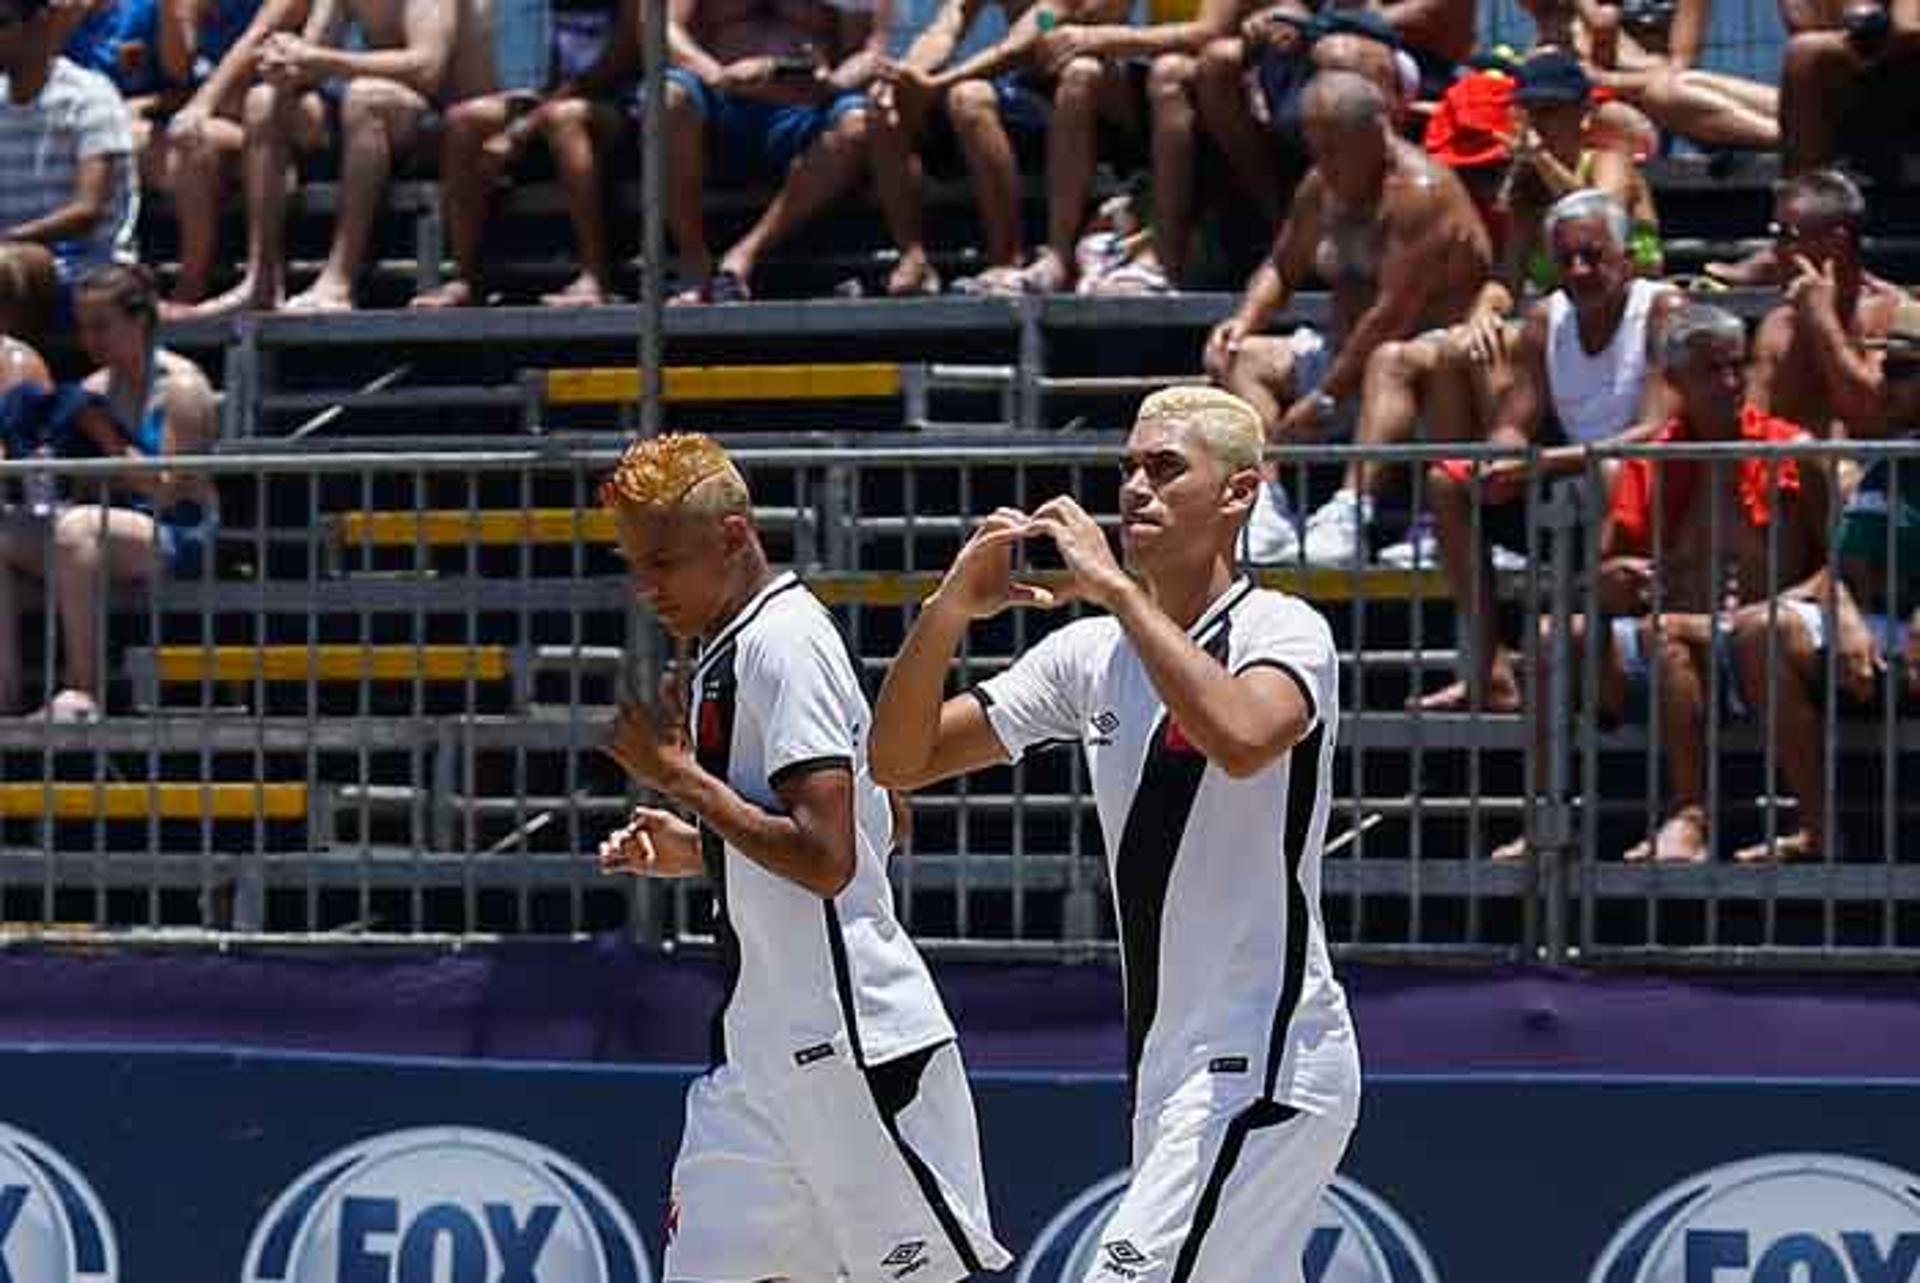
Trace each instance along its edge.
{"label": "bent arm of orange-haired player, from sleeve to raised upper hand", "polygon": [[628,707],[607,753],[645,784],[716,832],[730,847],[778,878],[831,899],[852,878],[852,772],[822,766],[776,784],[785,814],[756,807],[716,778],[687,743],[674,707]]}

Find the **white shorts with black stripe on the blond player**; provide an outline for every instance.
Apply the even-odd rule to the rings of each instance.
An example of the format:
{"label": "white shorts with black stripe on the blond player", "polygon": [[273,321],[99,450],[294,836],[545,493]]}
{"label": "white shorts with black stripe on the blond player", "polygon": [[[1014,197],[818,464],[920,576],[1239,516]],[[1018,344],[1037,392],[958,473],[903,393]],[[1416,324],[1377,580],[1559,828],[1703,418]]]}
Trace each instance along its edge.
{"label": "white shorts with black stripe on the blond player", "polygon": [[[1183,1093],[1187,1095],[1187,1093]],[[1169,1101],[1085,1283],[1300,1283],[1354,1124],[1275,1101]]]}

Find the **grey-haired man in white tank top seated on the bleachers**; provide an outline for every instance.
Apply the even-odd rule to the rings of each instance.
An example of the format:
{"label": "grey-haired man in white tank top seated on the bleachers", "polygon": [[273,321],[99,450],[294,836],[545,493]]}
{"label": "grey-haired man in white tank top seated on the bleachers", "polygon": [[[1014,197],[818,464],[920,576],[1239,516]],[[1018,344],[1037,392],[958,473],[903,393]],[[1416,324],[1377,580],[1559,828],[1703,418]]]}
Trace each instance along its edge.
{"label": "grey-haired man in white tank top seated on the bleachers", "polygon": [[[1488,545],[1526,545],[1528,471],[1536,469],[1544,480],[1578,476],[1588,446],[1642,440],[1667,419],[1659,344],[1684,296],[1634,273],[1626,209],[1592,188],[1563,196],[1548,211],[1546,242],[1559,288],[1526,309],[1507,353],[1511,380],[1486,438],[1494,446],[1546,449],[1534,463],[1496,461],[1478,478],[1465,463],[1427,472],[1440,565],[1467,645],[1461,680],[1421,699],[1427,711],[1521,709],[1513,653],[1500,640]],[[1478,542],[1475,492],[1482,503]]]}

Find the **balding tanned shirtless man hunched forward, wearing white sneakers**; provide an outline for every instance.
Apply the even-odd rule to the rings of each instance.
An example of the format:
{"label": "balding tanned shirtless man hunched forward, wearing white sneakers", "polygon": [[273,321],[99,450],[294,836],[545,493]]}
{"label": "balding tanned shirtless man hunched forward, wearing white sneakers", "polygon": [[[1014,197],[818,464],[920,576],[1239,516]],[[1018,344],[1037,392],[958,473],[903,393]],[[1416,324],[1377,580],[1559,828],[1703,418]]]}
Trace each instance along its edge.
{"label": "balding tanned shirtless man hunched forward, wearing white sneakers", "polygon": [[[1235,315],[1208,336],[1204,359],[1213,380],[1260,411],[1277,444],[1332,436],[1356,411],[1359,440],[1367,440],[1367,417],[1382,407],[1361,398],[1363,380],[1404,359],[1402,340],[1430,328],[1498,328],[1505,292],[1486,288],[1492,248],[1467,190],[1394,133],[1379,88],[1346,71],[1317,75],[1306,92],[1306,131],[1313,169],[1273,255]],[[1263,336],[1309,275],[1332,290],[1332,342],[1309,328]],[[1440,434],[1463,436],[1465,428]],[[1356,465],[1313,515],[1309,557],[1359,557],[1377,467]],[[1260,524],[1248,536],[1256,559],[1284,561],[1298,551],[1283,501],[1267,494],[1256,509]]]}

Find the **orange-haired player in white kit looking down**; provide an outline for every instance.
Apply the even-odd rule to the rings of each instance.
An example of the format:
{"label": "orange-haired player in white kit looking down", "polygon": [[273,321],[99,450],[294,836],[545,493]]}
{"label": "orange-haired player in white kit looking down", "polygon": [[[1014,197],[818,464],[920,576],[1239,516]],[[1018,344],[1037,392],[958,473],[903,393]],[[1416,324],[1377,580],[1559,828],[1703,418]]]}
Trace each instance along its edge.
{"label": "orange-haired player in white kit looking down", "polygon": [[776,574],[747,484],[705,436],[636,444],[601,486],[636,595],[703,638],[685,695],[609,753],[695,822],[639,807],[601,868],[705,872],[726,1003],[687,1091],[674,1283],[956,1283],[1010,1258],[987,1214],[954,1029],[893,914],[893,814],[833,618]]}

